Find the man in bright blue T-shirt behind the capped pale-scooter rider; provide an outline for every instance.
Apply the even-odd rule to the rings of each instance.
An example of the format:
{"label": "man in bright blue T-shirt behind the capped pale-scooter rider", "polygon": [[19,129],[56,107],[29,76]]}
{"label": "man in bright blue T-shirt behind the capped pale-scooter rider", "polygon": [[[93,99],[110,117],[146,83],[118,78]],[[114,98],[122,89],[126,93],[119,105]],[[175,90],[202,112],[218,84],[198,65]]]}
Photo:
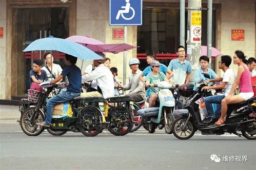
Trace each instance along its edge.
{"label": "man in bright blue T-shirt behind the capped pale-scooter rider", "polygon": [[[154,52],[149,52],[149,53],[146,54],[146,56],[147,56],[148,65],[150,65],[150,63],[152,61],[156,60],[156,55],[155,55]],[[168,80],[173,76],[173,73],[171,72],[171,70],[169,70],[165,65],[163,65],[161,63],[160,63],[160,70],[159,71],[166,74]],[[145,80],[144,80],[143,76],[147,76],[151,72],[152,72],[151,66],[146,67],[146,69],[143,70],[142,74],[139,77],[140,80],[143,83],[145,83]],[[146,93],[146,97],[147,96],[149,96],[149,89],[147,90],[147,93]]]}

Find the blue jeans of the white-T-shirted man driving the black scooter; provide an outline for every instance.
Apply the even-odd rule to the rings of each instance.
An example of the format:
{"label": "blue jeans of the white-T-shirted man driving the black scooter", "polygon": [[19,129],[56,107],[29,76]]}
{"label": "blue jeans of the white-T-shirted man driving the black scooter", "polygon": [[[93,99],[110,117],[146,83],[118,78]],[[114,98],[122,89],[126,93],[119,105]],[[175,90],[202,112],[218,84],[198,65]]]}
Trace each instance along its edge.
{"label": "blue jeans of the white-T-shirted man driving the black scooter", "polygon": [[[219,118],[221,116],[221,100],[225,98],[225,95],[208,96],[205,98],[206,110],[209,118]],[[213,112],[212,103],[216,104],[215,114]]]}

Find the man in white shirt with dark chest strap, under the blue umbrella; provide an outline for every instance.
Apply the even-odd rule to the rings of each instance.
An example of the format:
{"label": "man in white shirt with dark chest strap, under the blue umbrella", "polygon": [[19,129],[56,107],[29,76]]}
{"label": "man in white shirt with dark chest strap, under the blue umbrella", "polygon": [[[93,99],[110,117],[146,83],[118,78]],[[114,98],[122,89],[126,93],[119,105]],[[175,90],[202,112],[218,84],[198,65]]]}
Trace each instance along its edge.
{"label": "man in white shirt with dark chest strap, under the blue umbrella", "polygon": [[[62,74],[61,66],[53,63],[53,56],[51,53],[49,52],[45,53],[44,59],[46,61],[46,66],[44,66],[42,70],[46,71],[47,73],[47,81],[51,81]],[[58,82],[61,82],[61,81],[62,79],[60,79],[60,81]]]}

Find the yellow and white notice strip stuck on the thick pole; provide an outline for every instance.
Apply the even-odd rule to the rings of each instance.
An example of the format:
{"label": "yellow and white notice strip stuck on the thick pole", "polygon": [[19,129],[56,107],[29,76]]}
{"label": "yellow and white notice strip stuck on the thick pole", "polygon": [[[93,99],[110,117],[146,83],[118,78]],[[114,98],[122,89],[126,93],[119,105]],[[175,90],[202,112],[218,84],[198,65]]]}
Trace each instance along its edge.
{"label": "yellow and white notice strip stuck on the thick pole", "polygon": [[201,12],[191,12],[191,42],[201,41]]}

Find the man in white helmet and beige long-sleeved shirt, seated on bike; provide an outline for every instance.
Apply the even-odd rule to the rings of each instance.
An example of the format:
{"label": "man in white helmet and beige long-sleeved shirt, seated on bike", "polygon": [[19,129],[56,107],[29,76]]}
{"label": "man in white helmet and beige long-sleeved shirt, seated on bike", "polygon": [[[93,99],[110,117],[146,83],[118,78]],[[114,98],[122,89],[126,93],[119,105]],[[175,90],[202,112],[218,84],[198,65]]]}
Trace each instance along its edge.
{"label": "man in white helmet and beige long-sleeved shirt, seated on bike", "polygon": [[123,90],[130,90],[129,94],[125,96],[130,96],[134,101],[141,101],[145,97],[145,85],[139,79],[139,76],[142,73],[142,71],[139,69],[139,65],[140,65],[139,59],[137,58],[130,59],[129,66],[131,69],[131,73],[129,75],[129,82],[123,88]]}

